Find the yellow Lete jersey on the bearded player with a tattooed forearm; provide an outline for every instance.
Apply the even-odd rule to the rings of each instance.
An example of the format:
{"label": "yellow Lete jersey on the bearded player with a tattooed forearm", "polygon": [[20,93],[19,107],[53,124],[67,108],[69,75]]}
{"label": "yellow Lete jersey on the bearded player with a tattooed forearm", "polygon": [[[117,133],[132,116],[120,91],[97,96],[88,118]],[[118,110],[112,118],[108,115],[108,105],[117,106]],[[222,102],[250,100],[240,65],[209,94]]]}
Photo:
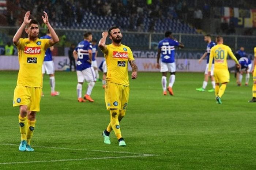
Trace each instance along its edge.
{"label": "yellow Lete jersey on the bearded player with a tattooed forearm", "polygon": [[132,50],[123,44],[120,46],[109,44],[102,52],[108,70],[106,81],[129,86],[128,62],[134,60]]}

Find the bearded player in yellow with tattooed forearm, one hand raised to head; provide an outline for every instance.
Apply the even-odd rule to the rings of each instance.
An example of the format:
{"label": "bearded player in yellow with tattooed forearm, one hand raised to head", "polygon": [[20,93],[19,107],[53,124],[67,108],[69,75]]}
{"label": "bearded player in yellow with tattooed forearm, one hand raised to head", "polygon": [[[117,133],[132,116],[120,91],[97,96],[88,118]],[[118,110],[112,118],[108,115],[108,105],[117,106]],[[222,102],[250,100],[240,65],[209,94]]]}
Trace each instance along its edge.
{"label": "bearded player in yellow with tattooed forearm, one hand raised to head", "polygon": [[[112,44],[106,45],[106,38]],[[126,146],[121,135],[120,121],[125,116],[129,99],[128,62],[132,67],[132,79],[137,78],[138,67],[132,55],[132,50],[121,44],[123,34],[117,26],[109,28],[102,33],[99,48],[104,53],[107,65],[107,77],[105,87],[105,103],[110,110],[110,123],[102,135],[104,143],[110,144],[110,132],[113,130],[119,142],[119,146]]]}

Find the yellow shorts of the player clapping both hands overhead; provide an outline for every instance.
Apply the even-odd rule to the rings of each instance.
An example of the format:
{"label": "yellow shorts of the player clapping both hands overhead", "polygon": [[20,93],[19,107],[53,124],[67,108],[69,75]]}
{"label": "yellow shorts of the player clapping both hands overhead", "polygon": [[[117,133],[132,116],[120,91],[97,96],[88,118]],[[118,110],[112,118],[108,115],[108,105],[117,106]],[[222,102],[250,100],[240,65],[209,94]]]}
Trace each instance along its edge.
{"label": "yellow shorts of the player clapping both hands overhead", "polygon": [[42,88],[17,85],[14,90],[13,106],[26,105],[34,112],[40,111]]}

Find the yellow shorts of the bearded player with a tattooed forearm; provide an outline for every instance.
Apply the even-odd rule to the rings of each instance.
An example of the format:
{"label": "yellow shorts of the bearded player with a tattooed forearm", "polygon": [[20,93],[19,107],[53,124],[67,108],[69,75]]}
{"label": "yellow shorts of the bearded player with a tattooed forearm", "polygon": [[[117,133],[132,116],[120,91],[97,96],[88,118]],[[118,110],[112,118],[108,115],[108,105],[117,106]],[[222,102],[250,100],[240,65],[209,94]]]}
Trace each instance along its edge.
{"label": "yellow shorts of the bearded player with a tattooed forearm", "polygon": [[106,82],[105,103],[107,110],[125,110],[129,99],[129,86]]}

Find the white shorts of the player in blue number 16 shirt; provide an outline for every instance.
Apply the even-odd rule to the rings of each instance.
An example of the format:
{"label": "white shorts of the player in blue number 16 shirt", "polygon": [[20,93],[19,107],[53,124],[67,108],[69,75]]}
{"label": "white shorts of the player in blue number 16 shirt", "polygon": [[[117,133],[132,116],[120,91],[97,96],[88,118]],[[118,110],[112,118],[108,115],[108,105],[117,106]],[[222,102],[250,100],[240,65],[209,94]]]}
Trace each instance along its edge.
{"label": "white shorts of the player in blue number 16 shirt", "polygon": [[84,80],[86,82],[95,82],[97,80],[93,67],[86,68],[83,71],[77,70],[76,75],[78,83],[83,83]]}

